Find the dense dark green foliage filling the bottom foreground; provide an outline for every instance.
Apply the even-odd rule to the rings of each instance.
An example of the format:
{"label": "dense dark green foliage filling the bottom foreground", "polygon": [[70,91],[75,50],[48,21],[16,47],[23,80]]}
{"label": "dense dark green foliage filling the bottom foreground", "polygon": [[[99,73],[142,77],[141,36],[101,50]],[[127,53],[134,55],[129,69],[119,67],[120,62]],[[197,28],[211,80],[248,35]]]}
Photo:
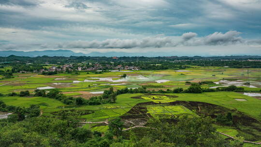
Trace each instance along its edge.
{"label": "dense dark green foliage filling the bottom foreground", "polygon": [[104,135],[80,128],[72,120],[34,117],[5,125],[0,128],[1,147],[242,147],[242,139],[223,139],[211,118],[184,116],[175,125],[152,119],[151,129],[144,130],[142,137],[123,132],[120,118],[109,122]]}

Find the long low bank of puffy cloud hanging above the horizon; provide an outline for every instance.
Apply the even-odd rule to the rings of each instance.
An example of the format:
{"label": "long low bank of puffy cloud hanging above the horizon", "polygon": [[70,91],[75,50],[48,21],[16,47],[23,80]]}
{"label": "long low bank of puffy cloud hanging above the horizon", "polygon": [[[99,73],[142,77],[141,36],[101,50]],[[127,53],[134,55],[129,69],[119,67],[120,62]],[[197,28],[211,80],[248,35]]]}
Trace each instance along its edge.
{"label": "long low bank of puffy cloud hanging above the horizon", "polygon": [[[228,45],[245,43],[246,40],[239,37],[240,32],[228,31],[226,33],[215,32],[205,37],[196,37],[197,33],[188,32],[182,36],[163,36],[145,37],[142,39],[106,39],[104,41],[73,41],[59,43],[62,48],[161,48],[174,47],[178,45],[198,46],[198,45]],[[58,46],[57,46],[58,47]]]}

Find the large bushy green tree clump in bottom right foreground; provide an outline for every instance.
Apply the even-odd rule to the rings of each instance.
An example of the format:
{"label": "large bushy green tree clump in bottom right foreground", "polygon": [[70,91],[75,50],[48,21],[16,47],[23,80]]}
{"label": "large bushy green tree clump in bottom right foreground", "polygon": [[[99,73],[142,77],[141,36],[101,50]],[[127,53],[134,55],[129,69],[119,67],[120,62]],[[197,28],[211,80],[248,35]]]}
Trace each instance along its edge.
{"label": "large bushy green tree clump in bottom right foreground", "polygon": [[151,127],[157,129],[151,129],[148,137],[151,141],[174,143],[177,147],[229,147],[212,123],[210,117],[182,116],[175,125],[155,119]]}

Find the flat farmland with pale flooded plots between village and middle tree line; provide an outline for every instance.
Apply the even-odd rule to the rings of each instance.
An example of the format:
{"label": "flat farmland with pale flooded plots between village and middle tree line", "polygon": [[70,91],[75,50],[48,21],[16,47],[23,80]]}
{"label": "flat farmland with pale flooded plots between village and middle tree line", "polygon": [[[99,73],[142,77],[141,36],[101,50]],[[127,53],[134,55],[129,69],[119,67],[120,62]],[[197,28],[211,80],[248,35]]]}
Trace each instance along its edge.
{"label": "flat farmland with pale flooded plots between village and middle tree line", "polygon": [[[186,72],[188,71],[188,72]],[[70,91],[102,91],[110,87],[118,88],[138,88],[142,85],[147,85],[151,89],[171,89],[171,88],[188,88],[189,85],[185,84],[186,81],[200,82],[200,81],[213,81],[218,82],[223,79],[228,80],[242,80],[242,83],[250,82],[249,86],[244,86],[246,89],[259,91],[261,89],[261,76],[260,69],[234,69],[224,67],[197,67],[186,69],[185,72],[177,72],[177,70],[164,70],[164,71],[134,71],[126,73],[127,78],[120,78],[122,72],[109,72],[109,73],[89,73],[79,72],[79,74],[66,74],[60,73],[56,75],[35,75],[35,74],[15,74],[12,79],[0,80],[2,85],[1,93],[9,93],[19,91],[21,89],[29,89],[33,91],[37,87],[50,86],[58,88],[62,92]],[[104,80],[99,80],[103,78]],[[106,80],[111,78],[112,80]],[[85,81],[89,80],[90,81]],[[121,80],[119,80],[121,79]],[[168,80],[163,83],[157,83],[157,80]],[[154,86],[154,88],[153,88]],[[158,88],[156,88],[158,86]],[[203,85],[203,87],[222,86],[220,84]]]}

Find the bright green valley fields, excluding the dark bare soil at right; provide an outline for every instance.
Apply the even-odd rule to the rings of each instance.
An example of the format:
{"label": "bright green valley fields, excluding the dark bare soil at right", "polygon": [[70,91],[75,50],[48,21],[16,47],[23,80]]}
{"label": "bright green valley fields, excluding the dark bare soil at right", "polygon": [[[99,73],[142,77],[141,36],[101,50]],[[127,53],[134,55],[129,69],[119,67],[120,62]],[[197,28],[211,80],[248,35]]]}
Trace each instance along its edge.
{"label": "bright green valley fields, excluding the dark bare soil at right", "polygon": [[[224,67],[198,67],[191,66],[186,69],[189,72],[176,72],[174,70],[162,71],[148,71],[149,73],[141,73],[142,71],[134,71],[126,73],[130,78],[122,79],[120,76],[123,73],[109,72],[109,73],[89,73],[80,72],[79,74],[73,73],[59,73],[56,75],[35,75],[32,73],[16,73],[15,78],[0,80],[0,84],[8,83],[0,87],[0,93],[8,94],[10,92],[19,92],[22,90],[29,90],[31,94],[38,87],[54,87],[61,92],[66,93],[66,96],[81,96],[82,94],[77,91],[104,91],[109,88],[123,89],[123,88],[141,88],[146,86],[149,90],[166,90],[174,88],[187,89],[190,84],[185,83],[199,82],[199,81],[212,81],[219,80],[250,82],[257,88],[245,88],[246,91],[260,92],[261,81],[260,69],[252,69],[252,72],[246,77],[246,69],[234,69]],[[251,71],[251,69],[250,69]],[[213,76],[215,75],[215,76]],[[98,77],[112,78],[113,80],[123,81],[98,81]],[[55,80],[56,78],[63,78],[62,80]],[[97,80],[94,82],[83,82],[84,80]],[[155,80],[170,80],[165,83],[157,83]],[[73,81],[80,81],[73,83]],[[124,85],[117,85],[117,84]],[[112,85],[111,85],[112,84]],[[116,85],[115,85],[116,84]],[[209,88],[221,86],[215,83],[203,84],[202,88]],[[46,90],[49,91],[48,89]],[[236,101],[235,99],[244,99],[245,101]],[[152,94],[121,94],[117,96],[116,103],[107,103],[101,105],[66,105],[58,100],[43,98],[43,97],[0,97],[0,100],[7,105],[29,107],[31,104],[39,104],[43,112],[43,116],[56,117],[62,110],[77,112],[77,118],[82,121],[105,121],[112,120],[116,117],[135,118],[147,116],[154,118],[176,118],[181,115],[199,116],[198,108],[188,107],[186,104],[179,104],[177,102],[197,102],[206,104],[215,104],[219,108],[226,108],[226,111],[231,111],[234,116],[238,113],[250,118],[261,121],[261,100],[243,95],[237,92],[203,92],[203,93],[152,93]],[[210,107],[212,107],[211,105]],[[202,107],[203,108],[203,107]],[[141,110],[139,110],[141,109]],[[213,108],[214,109],[214,108]],[[202,110],[208,113],[208,109]],[[217,111],[217,110],[216,110]],[[216,113],[215,111],[215,113]],[[86,113],[88,112],[88,113]],[[215,114],[214,113],[214,114]],[[215,114],[217,115],[217,114]],[[260,124],[255,124],[260,127]],[[249,126],[239,126],[235,128],[230,126],[214,124],[218,132],[224,132],[231,136],[242,135],[246,139],[253,139],[253,135],[245,133],[242,129],[250,130],[253,134],[258,134],[257,130],[249,128]],[[108,126],[105,124],[86,124],[84,128],[91,129],[92,131],[106,132]],[[252,130],[251,130],[252,129]],[[226,138],[225,136],[223,136]],[[244,147],[257,147],[252,144],[244,144]]]}

